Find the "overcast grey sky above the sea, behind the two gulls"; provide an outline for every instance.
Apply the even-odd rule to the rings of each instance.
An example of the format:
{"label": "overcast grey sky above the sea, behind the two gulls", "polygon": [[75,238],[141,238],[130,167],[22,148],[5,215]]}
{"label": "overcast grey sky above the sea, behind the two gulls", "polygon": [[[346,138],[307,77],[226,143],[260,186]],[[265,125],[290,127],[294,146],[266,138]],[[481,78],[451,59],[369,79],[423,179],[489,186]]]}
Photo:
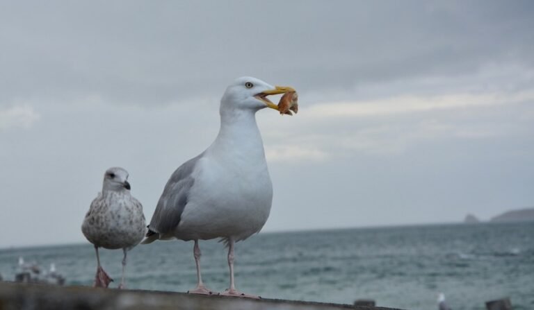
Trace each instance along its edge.
{"label": "overcast grey sky above the sea, behind the two gulls", "polygon": [[1,1],[0,247],[86,242],[122,166],[147,221],[226,86],[257,114],[264,231],[488,219],[534,205],[533,1]]}

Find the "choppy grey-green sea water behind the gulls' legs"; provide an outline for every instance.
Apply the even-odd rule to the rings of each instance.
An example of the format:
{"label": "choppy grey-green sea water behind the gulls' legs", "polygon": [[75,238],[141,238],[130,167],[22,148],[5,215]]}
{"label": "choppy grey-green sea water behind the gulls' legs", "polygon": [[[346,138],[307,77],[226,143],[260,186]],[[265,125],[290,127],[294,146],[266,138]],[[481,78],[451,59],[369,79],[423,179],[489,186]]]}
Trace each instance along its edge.
{"label": "choppy grey-green sea water behind the gulls' legs", "polygon": [[[228,286],[223,243],[201,241],[202,279]],[[121,250],[100,250],[118,286]],[[56,264],[67,285],[91,285],[90,243],[0,250],[0,274],[13,280],[19,257]],[[452,309],[485,309],[509,297],[515,310],[534,309],[534,223],[420,225],[261,233],[236,244],[236,287],[264,298],[437,309],[442,292]],[[196,284],[193,242],[158,241],[129,252],[127,287],[185,292]]]}

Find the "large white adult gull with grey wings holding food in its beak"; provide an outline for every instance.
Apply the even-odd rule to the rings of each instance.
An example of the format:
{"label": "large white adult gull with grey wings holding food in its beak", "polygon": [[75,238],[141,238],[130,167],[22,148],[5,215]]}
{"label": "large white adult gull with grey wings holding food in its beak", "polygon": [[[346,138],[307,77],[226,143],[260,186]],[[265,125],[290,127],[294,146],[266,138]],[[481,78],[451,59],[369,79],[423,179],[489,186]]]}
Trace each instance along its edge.
{"label": "large white adult gull with grey wings holding food in its beak", "polygon": [[220,101],[220,130],[203,153],[172,173],[148,226],[147,239],[195,241],[197,286],[189,293],[211,294],[200,275],[200,239],[220,238],[228,246],[229,288],[222,295],[257,298],[236,290],[234,243],[259,232],[273,200],[264,144],[255,114],[278,110],[266,97],[294,92],[257,78],[243,77],[229,85]]}

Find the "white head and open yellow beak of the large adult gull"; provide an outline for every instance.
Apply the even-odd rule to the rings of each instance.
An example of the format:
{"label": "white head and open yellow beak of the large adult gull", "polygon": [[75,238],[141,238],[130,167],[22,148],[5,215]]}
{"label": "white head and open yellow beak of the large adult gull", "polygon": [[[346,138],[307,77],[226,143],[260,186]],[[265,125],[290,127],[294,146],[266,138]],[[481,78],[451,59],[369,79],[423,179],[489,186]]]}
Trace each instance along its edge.
{"label": "white head and open yellow beak of the large adult gull", "polygon": [[257,112],[264,107],[278,110],[278,105],[271,102],[267,96],[294,92],[295,89],[288,86],[273,86],[258,78],[243,76],[230,84],[220,101],[221,112],[223,110],[251,110]]}

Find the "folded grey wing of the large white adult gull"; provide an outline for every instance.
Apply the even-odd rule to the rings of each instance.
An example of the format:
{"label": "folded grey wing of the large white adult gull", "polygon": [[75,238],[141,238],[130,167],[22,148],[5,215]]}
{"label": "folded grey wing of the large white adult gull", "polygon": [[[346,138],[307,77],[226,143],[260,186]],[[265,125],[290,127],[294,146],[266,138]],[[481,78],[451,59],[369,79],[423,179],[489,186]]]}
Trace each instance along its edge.
{"label": "folded grey wing of the large white adult gull", "polygon": [[188,160],[172,173],[148,225],[147,236],[154,233],[172,232],[180,223],[181,214],[189,200],[191,187],[195,183],[193,170],[203,154]]}

